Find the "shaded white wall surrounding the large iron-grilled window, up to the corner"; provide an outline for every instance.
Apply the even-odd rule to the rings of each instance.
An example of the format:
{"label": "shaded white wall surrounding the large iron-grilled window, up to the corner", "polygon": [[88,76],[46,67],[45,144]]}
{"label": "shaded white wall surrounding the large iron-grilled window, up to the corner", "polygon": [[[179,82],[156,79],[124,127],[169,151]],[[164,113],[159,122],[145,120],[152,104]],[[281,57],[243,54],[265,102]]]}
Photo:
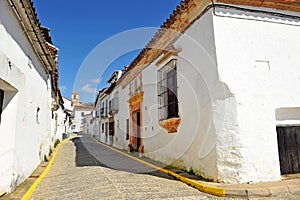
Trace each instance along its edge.
{"label": "shaded white wall surrounding the large iron-grilled window, up to the corner", "polygon": [[187,170],[192,168],[197,174],[216,180],[216,133],[211,91],[218,74],[211,12],[192,24],[174,46],[182,49],[177,58],[181,123],[178,132],[173,134],[158,125],[156,83],[159,67],[154,61],[143,71],[145,155]]}

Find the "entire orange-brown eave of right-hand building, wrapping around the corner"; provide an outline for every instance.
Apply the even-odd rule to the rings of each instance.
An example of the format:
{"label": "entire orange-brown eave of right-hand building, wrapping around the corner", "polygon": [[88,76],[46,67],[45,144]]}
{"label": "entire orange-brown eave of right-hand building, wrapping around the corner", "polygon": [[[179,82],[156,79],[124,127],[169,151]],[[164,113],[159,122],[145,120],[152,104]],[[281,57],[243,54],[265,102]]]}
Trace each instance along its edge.
{"label": "entire orange-brown eave of right-hand building, wrapping around the corner", "polygon": [[196,19],[212,8],[214,4],[300,11],[300,0],[183,0],[132,61],[118,85],[120,84],[122,88],[126,87],[134,77],[164,53],[169,45],[172,45]]}

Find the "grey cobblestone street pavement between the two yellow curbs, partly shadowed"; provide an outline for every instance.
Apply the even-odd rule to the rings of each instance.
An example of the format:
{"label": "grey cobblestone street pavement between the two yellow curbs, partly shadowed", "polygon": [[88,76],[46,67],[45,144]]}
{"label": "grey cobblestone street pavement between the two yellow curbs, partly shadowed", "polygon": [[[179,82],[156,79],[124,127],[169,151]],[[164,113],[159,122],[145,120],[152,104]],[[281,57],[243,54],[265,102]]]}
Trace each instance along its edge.
{"label": "grey cobblestone street pavement between the two yellow curbs, partly shadowed", "polygon": [[62,145],[31,199],[221,199],[83,136]]}

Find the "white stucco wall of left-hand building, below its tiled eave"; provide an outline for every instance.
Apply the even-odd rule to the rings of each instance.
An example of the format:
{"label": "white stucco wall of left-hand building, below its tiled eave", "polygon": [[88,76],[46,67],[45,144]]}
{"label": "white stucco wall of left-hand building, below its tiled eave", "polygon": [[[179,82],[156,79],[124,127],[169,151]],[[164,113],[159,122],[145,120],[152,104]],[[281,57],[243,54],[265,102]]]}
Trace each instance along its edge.
{"label": "white stucco wall of left-hand building, below its tiled eave", "polygon": [[50,148],[51,82],[18,24],[7,2],[0,1],[0,87],[5,87],[6,101],[0,125],[0,189],[7,192],[32,173]]}

